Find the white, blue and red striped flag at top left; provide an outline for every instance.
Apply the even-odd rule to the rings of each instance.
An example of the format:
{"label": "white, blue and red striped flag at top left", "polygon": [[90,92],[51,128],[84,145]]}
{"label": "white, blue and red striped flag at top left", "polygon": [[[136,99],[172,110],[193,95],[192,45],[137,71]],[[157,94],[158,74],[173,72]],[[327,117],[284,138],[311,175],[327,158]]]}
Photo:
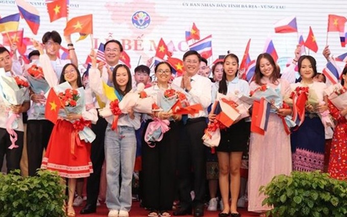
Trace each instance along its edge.
{"label": "white, blue and red striped flag at top left", "polygon": [[24,0],[16,0],[16,4],[21,17],[26,20],[31,31],[37,35],[40,26],[39,11],[34,6],[24,2]]}

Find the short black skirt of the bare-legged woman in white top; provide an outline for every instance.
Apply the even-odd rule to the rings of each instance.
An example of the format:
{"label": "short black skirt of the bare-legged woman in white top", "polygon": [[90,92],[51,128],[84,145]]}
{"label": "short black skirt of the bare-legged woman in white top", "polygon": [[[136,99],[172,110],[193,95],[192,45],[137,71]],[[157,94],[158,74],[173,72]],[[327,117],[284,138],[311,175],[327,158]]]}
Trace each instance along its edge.
{"label": "short black skirt of the bare-legged woman in white top", "polygon": [[217,152],[244,152],[251,134],[251,122],[244,119],[227,129],[220,130],[220,142]]}

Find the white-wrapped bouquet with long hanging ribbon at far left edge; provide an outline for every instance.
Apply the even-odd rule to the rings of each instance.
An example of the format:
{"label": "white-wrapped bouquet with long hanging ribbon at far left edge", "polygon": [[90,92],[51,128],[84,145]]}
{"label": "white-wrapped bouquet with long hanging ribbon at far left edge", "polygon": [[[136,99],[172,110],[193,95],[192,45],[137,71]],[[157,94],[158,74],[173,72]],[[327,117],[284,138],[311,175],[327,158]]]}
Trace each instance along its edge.
{"label": "white-wrapped bouquet with long hanging ribbon at far left edge", "polygon": [[15,141],[17,134],[14,132],[18,128],[19,114],[14,114],[10,107],[12,105],[22,105],[24,101],[29,101],[29,83],[22,76],[6,76],[4,68],[0,68],[0,93],[6,106],[8,119],[6,130],[12,135],[10,149],[17,148]]}

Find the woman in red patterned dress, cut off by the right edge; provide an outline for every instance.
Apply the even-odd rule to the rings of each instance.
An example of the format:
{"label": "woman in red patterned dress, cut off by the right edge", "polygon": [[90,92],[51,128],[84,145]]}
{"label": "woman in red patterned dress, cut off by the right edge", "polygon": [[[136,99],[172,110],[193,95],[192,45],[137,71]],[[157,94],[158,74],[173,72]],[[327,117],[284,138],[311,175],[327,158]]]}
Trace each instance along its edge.
{"label": "woman in red patterned dress, cut off by the right edge", "polygon": [[[335,179],[347,180],[347,107],[342,107],[342,105],[345,106],[346,104],[344,98],[347,94],[347,66],[345,66],[342,71],[341,84],[335,84],[328,87],[328,89],[331,89],[331,91],[328,92],[329,110],[331,115],[337,120],[333,140],[331,142],[328,173]],[[336,98],[331,99],[331,94],[335,94]],[[338,98],[340,99],[337,100]]]}

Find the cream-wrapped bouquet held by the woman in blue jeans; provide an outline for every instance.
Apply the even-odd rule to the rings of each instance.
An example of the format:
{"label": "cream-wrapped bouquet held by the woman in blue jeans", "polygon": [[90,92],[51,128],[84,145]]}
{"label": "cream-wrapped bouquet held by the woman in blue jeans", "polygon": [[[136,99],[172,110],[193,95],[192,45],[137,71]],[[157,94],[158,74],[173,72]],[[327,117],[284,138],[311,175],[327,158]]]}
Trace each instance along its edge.
{"label": "cream-wrapped bouquet held by the woman in blue jeans", "polygon": [[152,113],[153,98],[144,92],[144,84],[139,83],[136,90],[128,92],[119,102],[119,108],[123,113],[128,113],[128,109],[132,108],[139,113]]}

